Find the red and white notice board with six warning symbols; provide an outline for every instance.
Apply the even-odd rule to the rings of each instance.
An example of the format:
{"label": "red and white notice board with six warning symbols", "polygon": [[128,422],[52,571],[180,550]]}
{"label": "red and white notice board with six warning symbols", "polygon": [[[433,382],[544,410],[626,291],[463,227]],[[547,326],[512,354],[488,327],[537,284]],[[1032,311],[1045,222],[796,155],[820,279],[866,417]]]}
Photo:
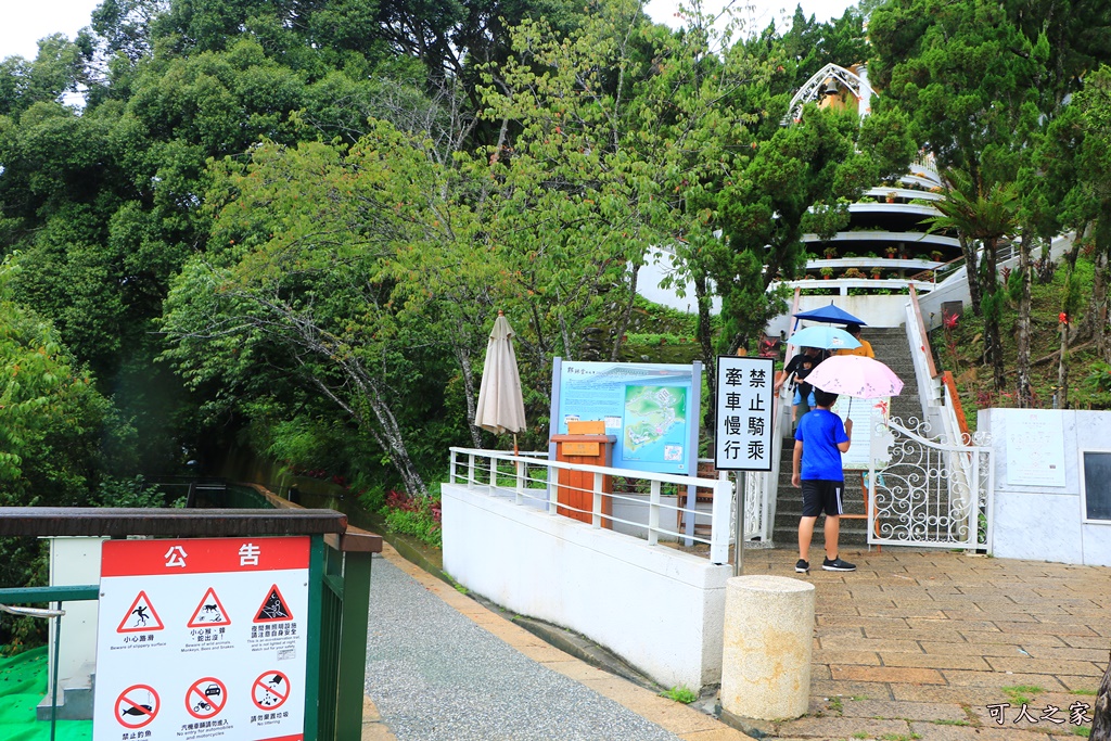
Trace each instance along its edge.
{"label": "red and white notice board with six warning symbols", "polygon": [[108,540],[93,741],[302,741],[309,538]]}

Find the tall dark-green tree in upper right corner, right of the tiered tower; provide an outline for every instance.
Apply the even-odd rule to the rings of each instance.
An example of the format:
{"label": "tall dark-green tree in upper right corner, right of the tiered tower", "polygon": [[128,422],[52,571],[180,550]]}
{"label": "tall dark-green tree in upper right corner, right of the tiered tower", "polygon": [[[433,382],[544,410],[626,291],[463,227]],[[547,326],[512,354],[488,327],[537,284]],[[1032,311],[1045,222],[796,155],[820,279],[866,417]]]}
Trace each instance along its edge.
{"label": "tall dark-green tree in upper right corner, right of the tiered tower", "polygon": [[[942,166],[963,172],[969,182],[967,188],[958,186],[967,197],[961,208],[991,193],[1022,194],[1014,203],[1011,236],[1018,237],[1023,281],[1017,374],[1023,405],[1030,403],[1031,246],[1070,227],[1081,232],[1085,228],[1069,216],[1078,213],[1070,202],[1083,199],[1067,196],[1074,192],[1069,173],[1075,171],[1077,138],[1054,122],[1070,116],[1070,96],[1107,58],[1108,47],[1100,41],[1109,29],[1107,3],[1088,0],[893,0],[871,14],[869,31],[877,49],[872,76],[912,118],[917,137]],[[1062,202],[1065,208],[1050,206]],[[985,266],[980,267],[979,246],[962,236],[962,247],[973,309],[980,312],[981,296],[994,301],[990,294],[998,279],[985,267],[994,256],[985,251]],[[988,323],[994,321],[989,310],[995,308],[984,308],[992,358],[999,348],[991,347]],[[997,389],[1002,390],[1001,361],[992,362]]]}

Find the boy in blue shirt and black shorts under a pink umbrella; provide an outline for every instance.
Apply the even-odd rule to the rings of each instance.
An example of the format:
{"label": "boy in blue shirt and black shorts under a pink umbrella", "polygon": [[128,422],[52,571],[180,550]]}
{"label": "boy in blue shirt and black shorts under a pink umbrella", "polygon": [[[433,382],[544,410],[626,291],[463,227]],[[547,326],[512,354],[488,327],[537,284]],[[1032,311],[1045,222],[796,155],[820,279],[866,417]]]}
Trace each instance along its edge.
{"label": "boy in blue shirt and black shorts under a pink umbrella", "polygon": [[841,453],[852,444],[852,420],[842,423],[830,411],[837,394],[814,389],[817,409],[802,415],[794,432],[794,459],[791,483],[802,488],[802,519],[799,521],[799,562],[794,570],[810,571],[810,540],[814,534],[818,515],[825,512],[825,571],[855,571],[857,567],[838,555],[837,541],[841,533],[841,497],[844,492],[844,472]]}

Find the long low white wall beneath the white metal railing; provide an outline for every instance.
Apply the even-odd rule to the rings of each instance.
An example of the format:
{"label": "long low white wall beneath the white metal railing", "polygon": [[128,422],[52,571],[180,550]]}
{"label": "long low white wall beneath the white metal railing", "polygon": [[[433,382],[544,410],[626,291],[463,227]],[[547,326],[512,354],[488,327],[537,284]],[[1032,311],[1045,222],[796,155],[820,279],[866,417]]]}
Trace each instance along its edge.
{"label": "long low white wall beneath the white metal railing", "polygon": [[443,568],[511,612],[604,645],[663,687],[721,681],[732,567],[442,484]]}

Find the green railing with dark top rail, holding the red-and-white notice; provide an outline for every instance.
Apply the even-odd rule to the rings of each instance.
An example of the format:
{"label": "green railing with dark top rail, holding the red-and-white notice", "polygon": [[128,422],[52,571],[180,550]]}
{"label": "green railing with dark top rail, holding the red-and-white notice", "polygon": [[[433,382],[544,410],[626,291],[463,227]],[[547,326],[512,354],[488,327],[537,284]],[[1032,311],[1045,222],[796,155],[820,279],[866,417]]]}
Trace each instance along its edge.
{"label": "green railing with dark top rail, holding the red-and-white notice", "polygon": [[[371,554],[382,540],[349,528],[333,510],[217,509],[150,510],[90,508],[0,508],[0,537],[83,535],[127,538],[231,538],[308,535],[309,621],[306,667],[306,741],[358,739],[362,729],[370,603]],[[0,589],[0,604],[97,600],[97,584]],[[47,617],[42,613],[40,617]],[[51,614],[59,620],[60,617]],[[58,641],[51,671],[57,707]],[[53,722],[51,723],[53,738]]]}

